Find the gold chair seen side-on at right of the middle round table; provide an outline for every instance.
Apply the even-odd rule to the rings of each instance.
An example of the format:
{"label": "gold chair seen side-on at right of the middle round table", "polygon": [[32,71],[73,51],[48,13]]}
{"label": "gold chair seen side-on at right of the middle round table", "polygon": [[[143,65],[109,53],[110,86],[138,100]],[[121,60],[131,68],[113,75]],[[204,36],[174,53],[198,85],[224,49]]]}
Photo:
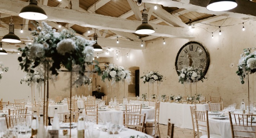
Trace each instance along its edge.
{"label": "gold chair seen side-on at right of the middle round table", "polygon": [[[145,132],[147,132],[147,130],[149,129],[154,129],[155,132],[159,133],[159,137],[160,136],[160,131],[159,131],[159,111],[160,111],[160,101],[155,103],[155,119],[147,119],[145,122]],[[154,124],[152,126],[152,124]]]}

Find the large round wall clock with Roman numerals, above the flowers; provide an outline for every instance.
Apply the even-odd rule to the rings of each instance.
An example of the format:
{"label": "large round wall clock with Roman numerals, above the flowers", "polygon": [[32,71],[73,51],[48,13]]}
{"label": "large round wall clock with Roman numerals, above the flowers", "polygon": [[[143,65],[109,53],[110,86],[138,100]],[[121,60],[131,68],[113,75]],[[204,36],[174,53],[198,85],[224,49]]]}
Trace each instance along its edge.
{"label": "large round wall clock with Roman numerals, above the flowers", "polygon": [[206,47],[196,41],[190,41],[184,44],[178,51],[175,60],[175,68],[178,75],[178,70],[181,70],[183,66],[202,68],[204,75],[206,75],[209,64],[210,56]]}

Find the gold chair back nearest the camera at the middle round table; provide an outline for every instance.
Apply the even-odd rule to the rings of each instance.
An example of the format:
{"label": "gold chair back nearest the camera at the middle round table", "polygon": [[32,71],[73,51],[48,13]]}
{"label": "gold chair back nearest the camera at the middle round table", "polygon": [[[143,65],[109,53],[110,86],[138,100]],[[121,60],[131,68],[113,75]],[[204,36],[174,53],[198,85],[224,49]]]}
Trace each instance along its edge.
{"label": "gold chair back nearest the camera at the middle round table", "polygon": [[146,114],[124,113],[124,127],[143,132]]}

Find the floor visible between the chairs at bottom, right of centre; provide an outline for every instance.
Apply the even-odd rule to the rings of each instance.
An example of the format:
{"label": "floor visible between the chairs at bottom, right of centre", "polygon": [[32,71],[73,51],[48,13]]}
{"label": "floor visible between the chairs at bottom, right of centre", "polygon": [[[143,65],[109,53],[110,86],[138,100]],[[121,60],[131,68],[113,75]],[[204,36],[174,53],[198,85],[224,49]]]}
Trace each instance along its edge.
{"label": "floor visible between the chairs at bottom, right of centre", "polygon": [[[167,125],[159,125],[161,138],[167,138]],[[199,134],[199,136],[201,136]],[[193,130],[174,127],[174,135],[173,138],[193,138]],[[196,136],[197,138],[197,136]]]}

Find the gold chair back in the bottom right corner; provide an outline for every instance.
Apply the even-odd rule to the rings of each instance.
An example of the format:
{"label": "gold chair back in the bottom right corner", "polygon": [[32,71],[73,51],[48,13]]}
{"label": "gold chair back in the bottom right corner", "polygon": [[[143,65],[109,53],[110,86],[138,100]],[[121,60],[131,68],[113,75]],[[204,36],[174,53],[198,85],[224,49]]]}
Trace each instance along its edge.
{"label": "gold chair back in the bottom right corner", "polygon": [[232,138],[256,138],[256,126],[253,123],[253,114],[234,114],[229,112],[229,121]]}

